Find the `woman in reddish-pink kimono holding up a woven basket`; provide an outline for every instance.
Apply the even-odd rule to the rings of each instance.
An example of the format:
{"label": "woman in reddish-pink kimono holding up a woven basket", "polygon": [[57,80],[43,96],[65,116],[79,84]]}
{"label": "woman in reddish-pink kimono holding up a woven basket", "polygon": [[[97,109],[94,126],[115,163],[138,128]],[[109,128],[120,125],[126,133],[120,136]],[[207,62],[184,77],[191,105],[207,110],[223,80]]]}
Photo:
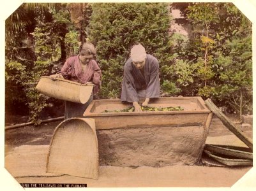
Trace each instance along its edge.
{"label": "woman in reddish-pink kimono holding up a woven basket", "polygon": [[93,95],[100,90],[102,71],[94,60],[96,50],[91,43],[84,43],[79,55],[70,57],[64,63],[61,71],[50,76],[52,80],[64,78],[79,83],[93,83],[93,94],[85,104],[65,101],[65,119],[72,117],[83,117],[83,113],[91,101]]}

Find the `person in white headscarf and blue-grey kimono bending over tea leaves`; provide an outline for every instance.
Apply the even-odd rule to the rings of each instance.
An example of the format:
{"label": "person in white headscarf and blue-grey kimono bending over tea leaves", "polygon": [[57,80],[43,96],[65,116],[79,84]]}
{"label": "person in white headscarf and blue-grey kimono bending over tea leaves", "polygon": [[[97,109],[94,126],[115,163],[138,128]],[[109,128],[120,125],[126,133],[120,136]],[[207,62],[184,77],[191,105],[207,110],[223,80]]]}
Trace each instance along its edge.
{"label": "person in white headscarf and blue-grey kimono bending over tea leaves", "polygon": [[124,64],[121,101],[133,103],[135,111],[142,111],[149,99],[160,96],[159,64],[153,55],[146,54],[142,45],[135,45],[131,57]]}

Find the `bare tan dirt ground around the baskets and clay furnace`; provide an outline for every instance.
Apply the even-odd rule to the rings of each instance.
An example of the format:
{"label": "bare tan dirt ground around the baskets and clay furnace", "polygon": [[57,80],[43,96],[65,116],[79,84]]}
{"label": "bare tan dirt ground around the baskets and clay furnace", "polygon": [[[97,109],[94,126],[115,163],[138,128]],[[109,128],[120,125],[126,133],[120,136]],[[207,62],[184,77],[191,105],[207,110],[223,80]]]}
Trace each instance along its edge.
{"label": "bare tan dirt ground around the baskets and clay furnace", "polygon": [[[229,118],[233,122],[237,122],[236,116],[229,115]],[[38,153],[37,157],[45,157],[54,129],[60,122],[50,122],[38,126],[29,125],[5,131],[4,155],[5,160],[7,160],[5,163],[14,159],[11,158],[12,155],[17,155],[22,160],[20,153],[26,152],[27,149],[34,150],[34,153]],[[11,122],[6,125],[10,124]],[[241,131],[246,136],[252,138],[252,126],[241,127]],[[229,140],[234,144],[236,142],[237,144],[235,145],[237,146],[245,146],[218,118],[213,117],[206,142],[213,144],[223,143],[225,145]],[[30,156],[30,162],[36,160],[41,161],[41,163],[39,162],[40,166],[34,167],[35,169],[45,166],[43,163],[44,160],[38,159],[36,154]],[[26,165],[24,167],[24,164],[19,164],[17,161],[15,165],[17,166],[13,166],[13,168],[16,168],[16,171],[19,167],[22,169],[21,166],[23,168],[26,167]],[[42,176],[38,176],[33,174],[33,169],[31,169],[29,176],[19,173],[12,175],[19,183],[87,183],[87,187],[231,187],[250,171],[251,168],[213,167],[202,162],[197,166],[138,167],[136,169],[130,167],[101,166],[98,180],[68,175],[44,176],[42,174]],[[14,169],[7,170],[9,172],[15,171]],[[255,178],[255,176],[253,177]],[[251,183],[250,186],[254,187],[255,184]]]}

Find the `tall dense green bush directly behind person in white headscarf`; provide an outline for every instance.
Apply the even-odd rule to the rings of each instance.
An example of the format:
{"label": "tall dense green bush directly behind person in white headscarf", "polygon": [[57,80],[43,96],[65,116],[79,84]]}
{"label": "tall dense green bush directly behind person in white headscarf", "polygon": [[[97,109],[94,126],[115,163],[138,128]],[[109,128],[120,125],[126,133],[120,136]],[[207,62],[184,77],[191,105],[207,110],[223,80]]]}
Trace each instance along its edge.
{"label": "tall dense green bush directly behind person in white headscarf", "polygon": [[[103,72],[103,98],[119,97],[124,62],[130,48],[141,43],[153,54],[160,67],[168,67],[175,56],[170,54],[168,4],[166,3],[98,3],[93,13],[88,39],[97,46],[98,62]],[[168,71],[162,71],[167,76]]]}

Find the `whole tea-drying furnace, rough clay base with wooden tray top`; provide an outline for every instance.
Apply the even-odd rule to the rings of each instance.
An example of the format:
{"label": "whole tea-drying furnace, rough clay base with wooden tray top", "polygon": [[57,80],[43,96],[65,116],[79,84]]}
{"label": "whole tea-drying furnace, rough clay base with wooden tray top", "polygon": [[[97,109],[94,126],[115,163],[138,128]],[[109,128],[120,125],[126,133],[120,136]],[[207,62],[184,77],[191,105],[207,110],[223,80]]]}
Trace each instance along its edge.
{"label": "whole tea-drying furnace, rough clay base with wooden tray top", "polygon": [[164,97],[149,105],[184,110],[102,113],[132,105],[119,99],[89,104],[84,117],[95,120],[100,165],[160,167],[199,161],[213,117],[202,98]]}

